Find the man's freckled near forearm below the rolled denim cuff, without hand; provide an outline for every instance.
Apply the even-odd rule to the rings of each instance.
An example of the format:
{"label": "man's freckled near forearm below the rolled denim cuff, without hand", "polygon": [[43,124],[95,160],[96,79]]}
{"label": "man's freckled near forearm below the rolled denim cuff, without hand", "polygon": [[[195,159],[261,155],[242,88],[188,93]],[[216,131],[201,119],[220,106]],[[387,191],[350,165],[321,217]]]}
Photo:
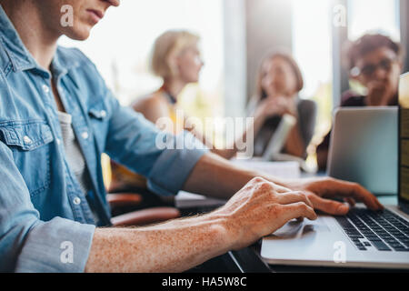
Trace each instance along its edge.
{"label": "man's freckled near forearm below the rolled denim cuff, without hand", "polygon": [[85,272],[181,272],[227,252],[223,218],[198,216],[156,226],[97,228]]}

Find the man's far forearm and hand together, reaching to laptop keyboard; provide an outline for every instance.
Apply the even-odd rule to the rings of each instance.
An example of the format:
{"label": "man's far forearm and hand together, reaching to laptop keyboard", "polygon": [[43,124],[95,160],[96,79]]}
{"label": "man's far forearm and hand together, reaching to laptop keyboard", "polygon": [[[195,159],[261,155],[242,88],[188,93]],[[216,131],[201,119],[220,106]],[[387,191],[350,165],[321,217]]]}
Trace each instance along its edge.
{"label": "man's far forearm and hand together, reaching to laptop keyboard", "polygon": [[[334,198],[342,198],[350,205],[354,205],[355,201],[364,202],[373,210],[383,208],[374,195],[356,183],[344,182],[330,177],[285,181],[234,166],[214,154],[205,155],[197,163],[185,184],[184,190],[227,200],[254,176],[261,176],[265,180],[273,182],[274,185],[284,186],[283,189],[288,192],[302,191],[311,201],[314,209],[334,216],[343,216],[349,210],[347,204],[334,201]],[[275,186],[275,188],[278,189],[279,186]]]}

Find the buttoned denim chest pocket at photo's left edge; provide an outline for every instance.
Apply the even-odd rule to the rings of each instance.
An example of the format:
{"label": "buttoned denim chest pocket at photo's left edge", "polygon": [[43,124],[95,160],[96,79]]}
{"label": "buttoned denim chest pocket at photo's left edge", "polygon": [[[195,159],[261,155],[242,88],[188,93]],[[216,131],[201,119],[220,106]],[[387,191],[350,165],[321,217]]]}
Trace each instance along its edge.
{"label": "buttoned denim chest pocket at photo's left edge", "polygon": [[15,165],[25,179],[30,195],[50,186],[50,143],[54,136],[44,121],[10,122],[0,125],[0,138],[13,151]]}

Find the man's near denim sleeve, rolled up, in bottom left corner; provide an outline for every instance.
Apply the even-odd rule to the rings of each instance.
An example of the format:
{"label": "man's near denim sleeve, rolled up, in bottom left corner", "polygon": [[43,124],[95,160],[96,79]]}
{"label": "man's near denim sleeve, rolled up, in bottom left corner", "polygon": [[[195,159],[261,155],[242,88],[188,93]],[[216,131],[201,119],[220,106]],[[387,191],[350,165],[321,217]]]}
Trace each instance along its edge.
{"label": "man's near denim sleeve, rolled up, in bottom left corner", "polygon": [[61,217],[41,221],[2,142],[0,165],[0,271],[83,272],[95,226]]}

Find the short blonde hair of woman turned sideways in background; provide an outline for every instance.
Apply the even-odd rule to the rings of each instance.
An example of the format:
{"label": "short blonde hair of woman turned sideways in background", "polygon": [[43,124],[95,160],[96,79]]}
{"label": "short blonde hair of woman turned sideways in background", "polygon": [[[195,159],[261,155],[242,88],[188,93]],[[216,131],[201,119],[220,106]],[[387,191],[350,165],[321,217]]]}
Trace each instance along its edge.
{"label": "short blonde hair of woman turned sideways in background", "polygon": [[169,30],[157,37],[151,53],[152,72],[162,78],[175,75],[175,56],[199,40],[198,35],[185,30]]}

